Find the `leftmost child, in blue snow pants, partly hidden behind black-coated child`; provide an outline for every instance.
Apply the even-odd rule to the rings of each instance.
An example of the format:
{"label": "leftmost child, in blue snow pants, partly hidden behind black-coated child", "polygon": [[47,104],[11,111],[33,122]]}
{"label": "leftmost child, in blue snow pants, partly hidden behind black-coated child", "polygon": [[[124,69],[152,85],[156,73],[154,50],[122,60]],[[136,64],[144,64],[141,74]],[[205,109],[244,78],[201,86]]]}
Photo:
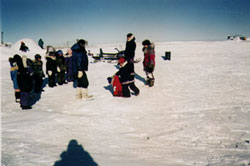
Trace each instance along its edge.
{"label": "leftmost child, in blue snow pants, partly hidden behind black-coated child", "polygon": [[10,76],[13,82],[13,88],[15,90],[16,102],[20,103],[21,92],[17,83],[18,66],[17,63],[14,61],[14,58],[12,57],[9,58],[9,62],[10,62]]}

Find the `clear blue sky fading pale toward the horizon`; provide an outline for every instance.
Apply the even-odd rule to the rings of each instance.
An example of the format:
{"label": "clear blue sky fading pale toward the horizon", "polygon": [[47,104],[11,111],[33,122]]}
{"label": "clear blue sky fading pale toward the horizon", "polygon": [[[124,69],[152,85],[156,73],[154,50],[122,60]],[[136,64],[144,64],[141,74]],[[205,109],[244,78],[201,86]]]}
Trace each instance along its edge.
{"label": "clear blue sky fading pale toward the horizon", "polygon": [[5,42],[216,41],[250,37],[250,0],[1,0]]}

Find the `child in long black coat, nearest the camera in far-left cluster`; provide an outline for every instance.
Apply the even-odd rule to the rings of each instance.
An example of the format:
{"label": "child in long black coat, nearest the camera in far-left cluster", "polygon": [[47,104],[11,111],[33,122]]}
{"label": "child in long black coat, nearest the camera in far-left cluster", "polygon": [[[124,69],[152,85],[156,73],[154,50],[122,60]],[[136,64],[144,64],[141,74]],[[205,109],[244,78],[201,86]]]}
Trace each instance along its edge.
{"label": "child in long black coat, nearest the camera in far-left cluster", "polygon": [[27,59],[26,56],[20,57],[19,55],[14,56],[14,61],[18,66],[17,83],[21,91],[20,106],[22,109],[31,109],[32,107],[30,105],[30,92],[33,89],[33,71],[30,63],[32,61],[30,59]]}

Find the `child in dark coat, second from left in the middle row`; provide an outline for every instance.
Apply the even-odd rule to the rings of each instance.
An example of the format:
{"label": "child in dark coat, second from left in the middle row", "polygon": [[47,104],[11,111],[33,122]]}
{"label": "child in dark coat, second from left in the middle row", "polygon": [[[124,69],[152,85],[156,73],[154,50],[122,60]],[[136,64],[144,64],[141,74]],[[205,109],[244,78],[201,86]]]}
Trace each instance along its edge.
{"label": "child in dark coat, second from left in the middle row", "polygon": [[63,56],[62,50],[56,52],[56,65],[57,65],[57,82],[59,85],[66,84],[65,82],[65,72],[66,64]]}

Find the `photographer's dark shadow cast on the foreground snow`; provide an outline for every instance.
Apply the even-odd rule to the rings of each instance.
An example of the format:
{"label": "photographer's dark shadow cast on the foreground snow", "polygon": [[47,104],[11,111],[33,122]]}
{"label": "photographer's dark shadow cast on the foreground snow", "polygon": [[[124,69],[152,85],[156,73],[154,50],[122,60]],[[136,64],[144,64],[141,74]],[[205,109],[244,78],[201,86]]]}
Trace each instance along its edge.
{"label": "photographer's dark shadow cast on the foreground snow", "polygon": [[61,160],[56,161],[54,166],[98,166],[75,139],[69,142],[68,149],[63,151],[60,157]]}

